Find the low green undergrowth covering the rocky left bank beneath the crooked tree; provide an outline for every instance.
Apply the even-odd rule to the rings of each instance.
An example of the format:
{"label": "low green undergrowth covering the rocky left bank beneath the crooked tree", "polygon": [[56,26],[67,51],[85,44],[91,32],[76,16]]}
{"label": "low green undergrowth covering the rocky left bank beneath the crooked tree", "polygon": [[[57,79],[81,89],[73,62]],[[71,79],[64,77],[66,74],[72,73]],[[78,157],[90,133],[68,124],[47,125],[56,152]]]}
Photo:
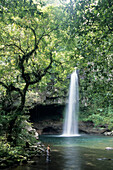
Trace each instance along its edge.
{"label": "low green undergrowth covering the rocky left bank beneath the crooked tree", "polygon": [[[29,153],[30,146],[37,143],[35,131],[31,123],[26,121],[28,119],[26,116],[18,116],[15,122],[16,126],[13,126],[12,138],[16,143],[8,142],[8,123],[10,119],[10,114],[8,114],[8,116],[2,115],[2,121],[0,122],[0,125],[2,125],[2,133],[0,134],[0,168],[3,168],[4,165],[9,167],[14,163],[19,164],[23,160],[27,161],[28,157],[31,156]],[[35,151],[31,152],[34,155],[36,154]],[[37,145],[37,153],[38,152]]]}

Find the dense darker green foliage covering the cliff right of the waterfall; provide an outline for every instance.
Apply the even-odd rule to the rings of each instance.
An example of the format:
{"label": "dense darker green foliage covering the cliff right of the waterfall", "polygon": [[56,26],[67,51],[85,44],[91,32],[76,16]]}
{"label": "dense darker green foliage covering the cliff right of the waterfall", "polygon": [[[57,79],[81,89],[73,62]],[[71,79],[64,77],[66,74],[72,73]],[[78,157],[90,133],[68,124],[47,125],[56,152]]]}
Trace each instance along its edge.
{"label": "dense darker green foliage covering the cliff right of the waterfall", "polygon": [[112,119],[106,108],[112,109],[113,100],[112,5],[108,0],[67,4],[71,58],[77,62],[80,76],[80,116],[96,124],[107,122],[110,127]]}

